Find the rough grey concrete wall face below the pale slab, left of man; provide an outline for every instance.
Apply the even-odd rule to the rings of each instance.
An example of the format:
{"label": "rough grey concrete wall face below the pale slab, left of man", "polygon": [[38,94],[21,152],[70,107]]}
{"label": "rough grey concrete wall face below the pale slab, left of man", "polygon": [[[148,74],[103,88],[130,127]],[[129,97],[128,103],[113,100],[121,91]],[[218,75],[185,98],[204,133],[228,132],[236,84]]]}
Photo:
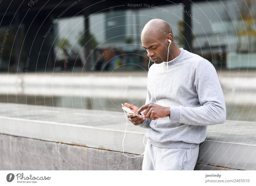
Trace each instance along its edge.
{"label": "rough grey concrete wall face below the pale slab, left of man", "polygon": [[[0,135],[1,170],[141,170],[143,156]],[[127,154],[134,157],[134,154]]]}

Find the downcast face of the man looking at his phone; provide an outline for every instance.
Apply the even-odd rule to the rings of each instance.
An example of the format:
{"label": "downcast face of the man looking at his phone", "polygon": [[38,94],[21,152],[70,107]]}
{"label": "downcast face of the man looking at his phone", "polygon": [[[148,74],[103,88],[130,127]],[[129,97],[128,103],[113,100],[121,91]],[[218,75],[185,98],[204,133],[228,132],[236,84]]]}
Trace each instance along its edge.
{"label": "downcast face of the man looking at his phone", "polygon": [[152,62],[159,64],[167,59],[168,46],[165,46],[166,41],[164,41],[163,39],[160,41],[150,37],[142,36],[141,43],[142,47],[147,50],[148,57],[151,57],[150,60]]}

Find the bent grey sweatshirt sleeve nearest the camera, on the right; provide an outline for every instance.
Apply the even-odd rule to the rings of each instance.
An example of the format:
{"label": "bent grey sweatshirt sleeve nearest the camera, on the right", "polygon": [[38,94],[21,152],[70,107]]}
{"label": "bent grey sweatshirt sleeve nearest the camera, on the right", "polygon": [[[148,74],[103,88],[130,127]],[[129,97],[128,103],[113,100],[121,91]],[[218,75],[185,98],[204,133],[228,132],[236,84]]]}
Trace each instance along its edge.
{"label": "bent grey sweatshirt sleeve nearest the camera, on the right", "polygon": [[194,89],[200,107],[171,107],[170,119],[188,125],[225,123],[226,105],[219,78],[212,63],[202,60],[193,69]]}

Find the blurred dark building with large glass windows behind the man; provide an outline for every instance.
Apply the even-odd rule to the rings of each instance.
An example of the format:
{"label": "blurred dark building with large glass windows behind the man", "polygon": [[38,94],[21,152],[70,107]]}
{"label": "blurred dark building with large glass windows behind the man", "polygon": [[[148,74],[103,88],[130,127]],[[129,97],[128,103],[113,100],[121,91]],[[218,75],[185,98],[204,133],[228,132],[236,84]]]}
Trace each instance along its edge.
{"label": "blurred dark building with large glass windows behind the man", "polygon": [[147,69],[140,33],[155,18],[170,24],[179,47],[216,68],[256,68],[252,0],[4,0],[0,12],[0,71],[61,71],[67,56],[67,70]]}

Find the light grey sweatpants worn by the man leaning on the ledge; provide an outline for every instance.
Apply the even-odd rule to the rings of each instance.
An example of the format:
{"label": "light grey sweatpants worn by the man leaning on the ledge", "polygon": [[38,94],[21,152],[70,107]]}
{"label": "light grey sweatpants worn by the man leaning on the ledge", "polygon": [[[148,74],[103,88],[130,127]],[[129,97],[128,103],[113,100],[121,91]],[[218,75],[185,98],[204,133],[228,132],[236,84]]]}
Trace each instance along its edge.
{"label": "light grey sweatpants worn by the man leaning on the ledge", "polygon": [[194,170],[199,153],[195,148],[159,148],[147,143],[142,170]]}

